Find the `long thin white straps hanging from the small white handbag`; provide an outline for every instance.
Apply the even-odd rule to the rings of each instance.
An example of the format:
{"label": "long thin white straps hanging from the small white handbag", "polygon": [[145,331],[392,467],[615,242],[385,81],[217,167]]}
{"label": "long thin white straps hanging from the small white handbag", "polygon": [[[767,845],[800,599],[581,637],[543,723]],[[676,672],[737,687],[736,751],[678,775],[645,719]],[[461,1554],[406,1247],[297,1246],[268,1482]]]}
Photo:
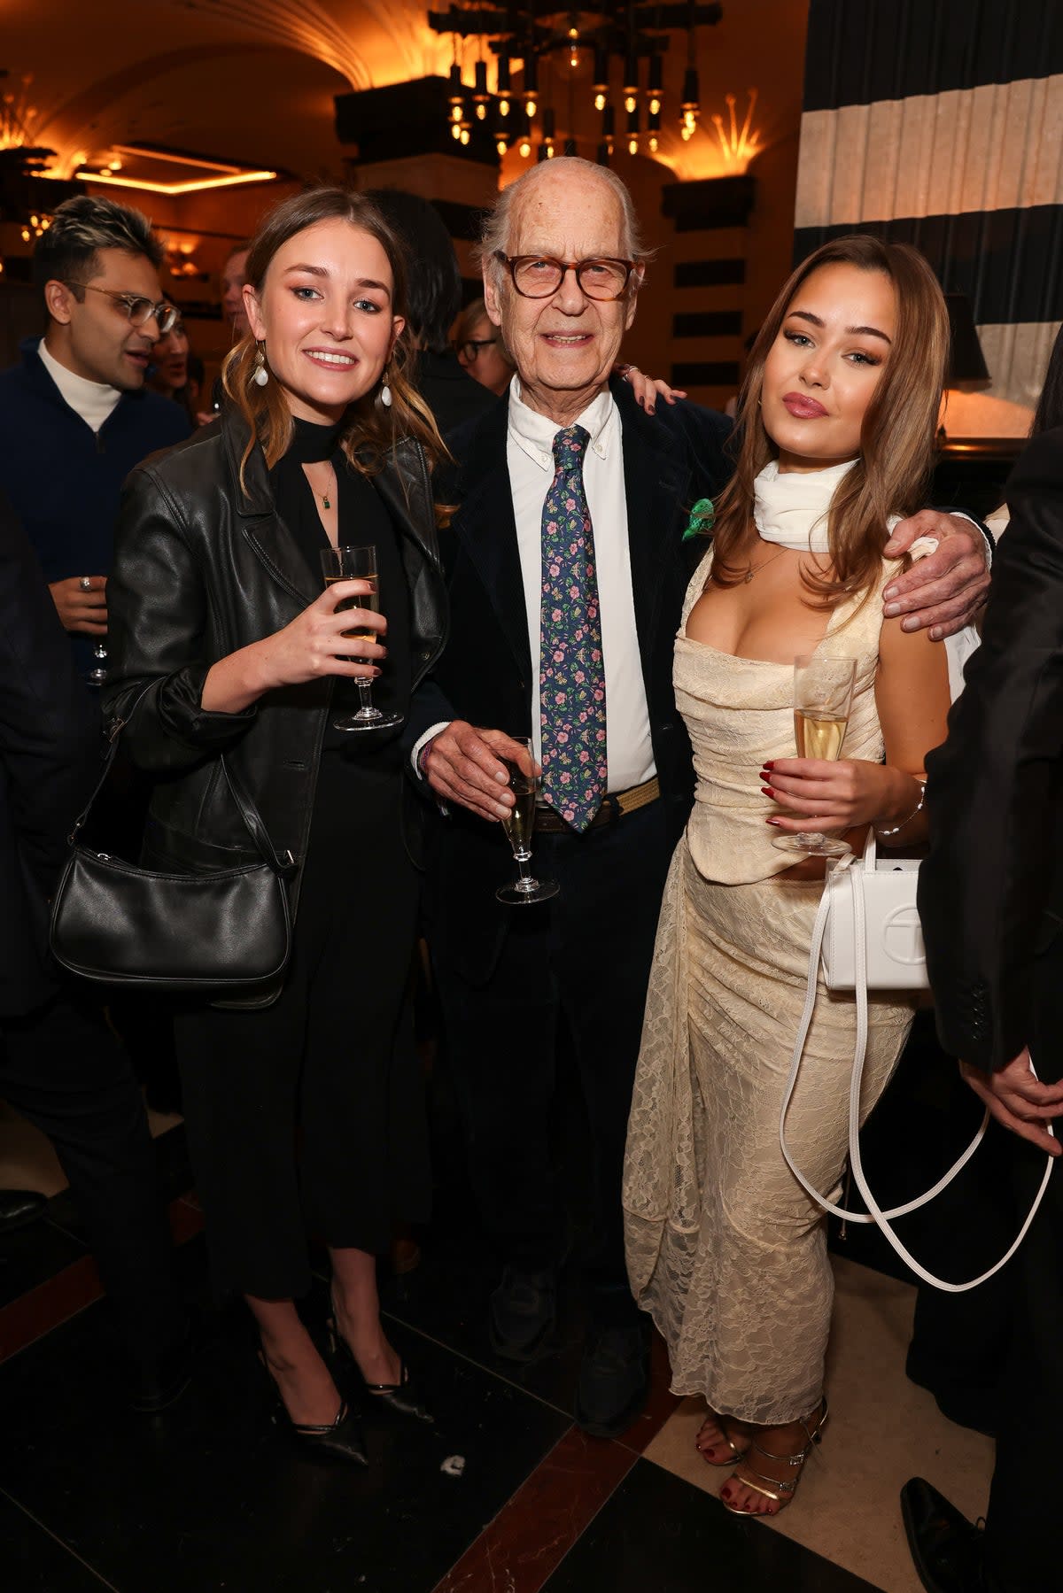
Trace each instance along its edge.
{"label": "long thin white straps hanging from the small white handbag", "polygon": [[[811,1026],[813,1008],[816,1005],[819,957],[822,953],[822,940],[827,929],[827,918],[830,914],[830,879],[832,879],[830,875],[824,883],[822,897],[819,900],[819,910],[816,913],[816,921],[813,924],[813,940],[808,956],[808,986],[805,991],[805,1007],[802,1012],[802,1021],[798,1024],[797,1042],[794,1045],[790,1070],[786,1080],[786,1088],[783,1091],[783,1106],[779,1109],[779,1147],[783,1150],[783,1157],[790,1172],[802,1185],[805,1193],[811,1195],[811,1198],[816,1201],[818,1206],[821,1206],[824,1211],[832,1212],[835,1217],[843,1217],[846,1222],[877,1223],[877,1227],[881,1230],[881,1233],[892,1246],[892,1249],[897,1252],[897,1255],[905,1262],[907,1266],[912,1268],[912,1271],[918,1278],[923,1279],[923,1282],[932,1284],[934,1289],[942,1289],[947,1294],[966,1294],[966,1290],[977,1289],[979,1284],[983,1284],[988,1278],[993,1278],[994,1273],[999,1273],[999,1270],[1006,1266],[1007,1262],[1010,1262],[1012,1255],[1026,1238],[1030,1225],[1038,1214],[1038,1207],[1041,1206],[1044,1192],[1049,1185],[1055,1158],[1049,1155],[1045,1157],[1045,1169],[1041,1179],[1041,1187],[1038,1188],[1030,1212],[1026,1214],[1026,1220],[1018,1230],[1018,1235],[1012,1243],[1012,1246],[999,1258],[999,1262],[990,1266],[979,1278],[972,1278],[969,1282],[953,1284],[947,1282],[943,1278],[936,1278],[934,1273],[929,1273],[924,1266],[920,1265],[920,1262],[916,1262],[912,1252],[900,1243],[897,1235],[892,1231],[891,1228],[892,1219],[905,1217],[908,1212],[918,1211],[921,1206],[928,1206],[929,1201],[932,1201],[936,1195],[940,1195],[940,1192],[947,1188],[948,1184],[951,1184],[951,1180],[956,1177],[956,1174],[967,1164],[971,1157],[982,1144],[982,1139],[985,1137],[985,1131],[990,1121],[990,1114],[988,1110],[983,1114],[979,1131],[975,1133],[967,1149],[951,1164],[948,1172],[945,1172],[937,1180],[937,1184],[932,1188],[926,1190],[924,1195],[918,1195],[915,1200],[907,1201],[904,1206],[894,1206],[891,1211],[883,1211],[878,1206],[875,1196],[872,1195],[867,1185],[867,1179],[864,1176],[864,1161],[861,1157],[861,1085],[864,1080],[864,1059],[867,1056],[867,913],[864,903],[864,878],[862,878],[865,870],[856,868],[853,867],[853,863],[854,863],[853,857],[843,859],[837,865],[835,875],[838,871],[845,871],[848,875],[849,889],[853,892],[853,926],[856,935],[856,1048],[853,1055],[853,1077],[849,1082],[849,1166],[853,1169],[853,1179],[856,1182],[856,1187],[864,1196],[864,1201],[867,1203],[867,1212],[854,1212],[854,1211],[846,1211],[843,1206],[835,1206],[834,1201],[829,1201],[816,1188],[813,1188],[813,1185],[808,1182],[805,1174],[794,1161],[789,1145],[786,1144],[786,1115],[789,1112],[790,1098],[797,1086],[797,1075],[800,1070],[802,1056],[805,1053],[805,1042],[808,1039],[808,1029]],[[1052,1133],[1050,1125],[1049,1125],[1049,1133]]]}

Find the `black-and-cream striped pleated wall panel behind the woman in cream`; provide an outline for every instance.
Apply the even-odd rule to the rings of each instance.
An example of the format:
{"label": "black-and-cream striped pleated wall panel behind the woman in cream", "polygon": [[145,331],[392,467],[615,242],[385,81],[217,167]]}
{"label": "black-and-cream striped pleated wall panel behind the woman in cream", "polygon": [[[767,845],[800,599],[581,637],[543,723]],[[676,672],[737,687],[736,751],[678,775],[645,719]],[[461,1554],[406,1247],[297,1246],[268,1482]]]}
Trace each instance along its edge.
{"label": "black-and-cream striped pleated wall panel behind the woman in cream", "polygon": [[966,293],[1033,406],[1063,320],[1063,5],[811,0],[795,260],[867,231]]}

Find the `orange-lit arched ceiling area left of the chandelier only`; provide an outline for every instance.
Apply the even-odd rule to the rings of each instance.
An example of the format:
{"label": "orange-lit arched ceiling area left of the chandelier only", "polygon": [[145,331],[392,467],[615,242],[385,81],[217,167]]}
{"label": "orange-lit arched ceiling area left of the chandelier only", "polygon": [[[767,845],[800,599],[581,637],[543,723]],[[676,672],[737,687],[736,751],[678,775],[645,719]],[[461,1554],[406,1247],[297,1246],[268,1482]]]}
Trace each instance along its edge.
{"label": "orange-lit arched ceiling area left of the chandelier only", "polygon": [[[67,175],[112,142],[316,170],[331,97],[445,70],[414,0],[0,0],[5,91]],[[271,115],[271,104],[279,107]]]}

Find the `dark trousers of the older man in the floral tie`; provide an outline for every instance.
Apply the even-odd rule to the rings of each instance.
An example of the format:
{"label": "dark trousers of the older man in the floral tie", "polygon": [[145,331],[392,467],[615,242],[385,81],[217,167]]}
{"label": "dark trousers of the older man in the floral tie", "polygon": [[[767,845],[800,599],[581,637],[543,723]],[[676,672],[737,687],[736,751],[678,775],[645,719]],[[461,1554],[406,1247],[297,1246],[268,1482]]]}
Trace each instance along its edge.
{"label": "dark trousers of the older man in the floral tie", "polygon": [[669,855],[660,801],[582,836],[535,835],[532,870],[556,879],[561,892],[540,905],[502,908],[510,918],[491,977],[473,983],[446,937],[433,943],[481,1217],[504,1257],[526,1270],[553,1265],[561,1254],[551,1128],[558,1037],[561,1024],[567,1027],[590,1125],[586,1282],[601,1325],[637,1319],[623,1262],[620,1184]]}

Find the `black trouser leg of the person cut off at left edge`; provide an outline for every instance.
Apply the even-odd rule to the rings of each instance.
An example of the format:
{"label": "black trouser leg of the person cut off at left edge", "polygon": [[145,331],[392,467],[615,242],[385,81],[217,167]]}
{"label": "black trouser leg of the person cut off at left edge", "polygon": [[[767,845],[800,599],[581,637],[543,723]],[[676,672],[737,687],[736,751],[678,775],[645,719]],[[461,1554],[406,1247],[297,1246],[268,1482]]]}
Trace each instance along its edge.
{"label": "black trouser leg of the person cut off at left edge", "polygon": [[65,991],[0,1018],[0,1094],[56,1147],[123,1337],[150,1368],[186,1316],[129,1059],[91,997]]}

